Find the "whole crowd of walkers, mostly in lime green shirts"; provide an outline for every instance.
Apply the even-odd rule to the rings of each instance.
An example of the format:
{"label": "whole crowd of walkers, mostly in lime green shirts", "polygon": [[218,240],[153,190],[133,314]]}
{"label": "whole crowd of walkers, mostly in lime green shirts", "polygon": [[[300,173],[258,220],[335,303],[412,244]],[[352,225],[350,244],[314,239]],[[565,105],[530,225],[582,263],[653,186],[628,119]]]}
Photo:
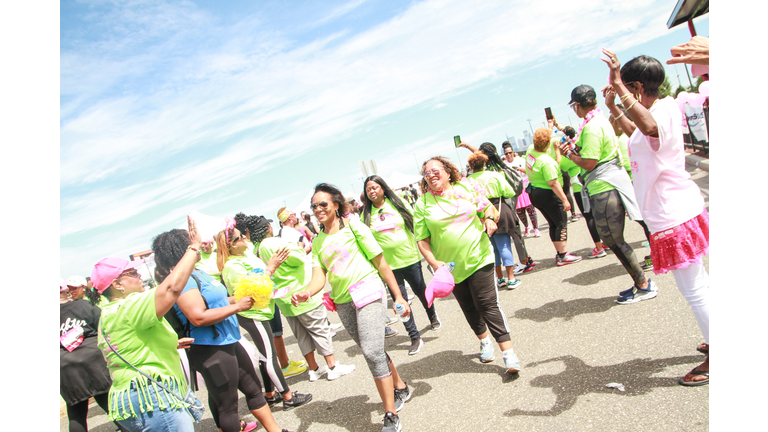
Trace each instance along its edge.
{"label": "whole crowd of walkers, mostly in lime green shirts", "polygon": [[[239,213],[214,238],[201,238],[188,218],[188,230],[152,241],[153,289],[142,285],[141,261],[114,257],[95,264],[90,278],[62,280],[61,396],[69,430],[87,430],[93,397],[120,430],[191,432],[190,413],[200,405],[194,403],[199,373],[220,431],[251,431],[260,423],[269,432],[285,432],[272,407],[312,400],[290,389],[286,377],[306,371],[310,382],[335,380],[356,369],[334,357],[338,327],[331,326],[328,312],[335,311],[362,350],[381,397],[382,431],[400,431],[398,412],[411,393],[385,349],[392,330],[384,287],[407,318],[408,354],[415,355],[424,342],[405,284],[437,330],[442,323],[427,295],[421,260],[434,270],[455,263],[453,295],[480,342],[480,360],[494,361],[495,340],[506,372],[519,372],[498,296],[499,289],[519,287],[517,276],[536,264],[525,247],[526,237],[540,235],[536,210],[549,226],[558,266],[581,261],[568,252],[568,223],[586,222],[595,244],[587,258],[603,258],[610,249],[632,278],[632,286],[618,293],[620,304],[658,295],[647,271],[672,272],[703,335],[697,349],[706,354],[679,382],[707,384],[709,282],[702,258],[709,249],[709,217],[684,168],[681,114],[674,99],[659,98],[659,61],[639,56],[622,67],[615,54],[603,52],[609,85],[601,93],[610,116],[597,107],[595,89],[579,85],[570,100],[583,119],[578,130],[561,128],[553,118],[535,131],[525,156],[508,142],[500,153],[491,143],[462,141],[472,152],[468,171],[445,157],[429,158],[421,167],[420,191],[395,191],[373,175],[363,182],[359,205],[320,183],[311,198],[317,222],[281,208],[277,236],[264,216]],[[643,226],[651,250],[646,259],[638,260],[624,240],[627,218]],[[234,287],[250,274],[269,276],[279,293],[265,308],[254,307],[252,297],[236,301]],[[323,292],[326,281],[330,293]],[[282,317],[303,362],[288,359]],[[239,418],[238,391],[258,422]]]}

